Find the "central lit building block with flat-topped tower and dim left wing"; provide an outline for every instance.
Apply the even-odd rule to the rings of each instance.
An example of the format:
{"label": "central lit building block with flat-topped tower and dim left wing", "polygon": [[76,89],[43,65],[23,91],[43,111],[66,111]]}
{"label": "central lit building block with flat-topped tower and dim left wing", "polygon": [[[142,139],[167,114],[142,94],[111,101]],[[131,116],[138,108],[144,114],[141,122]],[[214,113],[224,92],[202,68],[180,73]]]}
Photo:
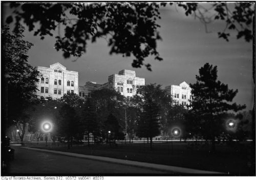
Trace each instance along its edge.
{"label": "central lit building block with flat-topped tower and dim left wing", "polygon": [[123,69],[118,74],[112,74],[108,78],[108,82],[97,84],[96,82],[87,82],[84,86],[79,86],[79,96],[89,96],[93,90],[113,89],[120,92],[124,96],[133,96],[136,94],[136,88],[145,85],[145,78],[136,77],[133,70]]}

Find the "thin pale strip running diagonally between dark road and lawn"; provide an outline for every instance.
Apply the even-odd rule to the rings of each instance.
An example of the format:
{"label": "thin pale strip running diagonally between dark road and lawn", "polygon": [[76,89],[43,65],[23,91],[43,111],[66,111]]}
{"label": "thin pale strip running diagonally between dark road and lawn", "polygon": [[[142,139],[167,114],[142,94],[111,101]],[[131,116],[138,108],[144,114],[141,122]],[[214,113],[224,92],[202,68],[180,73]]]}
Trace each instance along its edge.
{"label": "thin pale strip running diagonally between dark road and lawn", "polygon": [[51,152],[59,155],[65,155],[65,156],[71,156],[71,157],[77,157],[77,158],[110,162],[115,164],[143,167],[143,168],[153,169],[153,170],[155,169],[155,170],[161,170],[161,171],[167,171],[167,172],[176,172],[178,174],[224,175],[224,173],[221,173],[221,172],[204,171],[204,170],[182,168],[182,167],[176,167],[176,166],[166,166],[166,165],[152,164],[152,163],[143,163],[143,162],[137,162],[137,161],[121,160],[121,159],[114,159],[114,158],[100,157],[100,156],[81,155],[81,154],[72,153],[72,152],[62,152],[62,151],[55,151],[55,150],[48,150],[48,149],[37,149],[37,148],[31,148],[31,147],[22,147],[22,148],[43,151],[43,152]]}

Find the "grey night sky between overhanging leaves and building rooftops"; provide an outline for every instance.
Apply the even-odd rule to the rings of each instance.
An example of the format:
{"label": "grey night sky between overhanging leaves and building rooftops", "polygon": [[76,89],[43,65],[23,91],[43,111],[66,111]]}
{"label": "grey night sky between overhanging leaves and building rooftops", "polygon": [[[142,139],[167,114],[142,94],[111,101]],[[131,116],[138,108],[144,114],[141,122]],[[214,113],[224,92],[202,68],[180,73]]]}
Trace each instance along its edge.
{"label": "grey night sky between overhanging leaves and building rooftops", "polygon": [[[206,4],[205,4],[206,5]],[[207,5],[206,5],[207,6]],[[178,12],[177,12],[178,10]],[[253,106],[252,81],[252,42],[236,39],[236,32],[229,32],[229,42],[219,39],[217,33],[225,28],[225,24],[216,21],[208,25],[206,33],[204,25],[191,16],[185,16],[181,8],[174,6],[162,8],[160,11],[161,25],[158,41],[158,51],[164,61],[155,61],[153,57],[146,59],[152,64],[153,71],[145,67],[133,68],[133,58],[123,58],[121,55],[109,55],[110,48],[105,39],[99,39],[94,44],[88,44],[87,53],[72,62],[75,58],[64,59],[61,52],[53,48],[54,38],[46,37],[40,40],[32,32],[25,32],[25,40],[34,46],[29,52],[29,63],[33,66],[46,66],[59,62],[68,70],[78,71],[79,85],[87,81],[105,83],[108,76],[118,73],[121,69],[136,71],[136,75],[145,78],[146,84],[157,83],[163,87],[183,81],[196,82],[198,70],[206,62],[218,66],[218,78],[228,84],[229,88],[238,89],[233,102],[246,104],[247,110]],[[4,9],[3,17],[12,11]]]}

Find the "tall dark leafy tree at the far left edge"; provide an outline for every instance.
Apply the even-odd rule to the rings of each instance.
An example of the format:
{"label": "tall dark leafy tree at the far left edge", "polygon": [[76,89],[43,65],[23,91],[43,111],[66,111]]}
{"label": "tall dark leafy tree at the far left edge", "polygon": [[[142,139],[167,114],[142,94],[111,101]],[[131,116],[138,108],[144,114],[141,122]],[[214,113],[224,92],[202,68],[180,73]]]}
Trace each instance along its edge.
{"label": "tall dark leafy tree at the far left edge", "polygon": [[23,117],[28,118],[24,114],[24,109],[30,105],[31,99],[36,97],[39,71],[28,64],[27,54],[33,44],[23,40],[23,32],[22,25],[18,25],[12,33],[9,32],[9,27],[6,25],[1,32],[2,62],[5,63],[2,84],[4,87],[2,97],[5,97],[4,119],[2,119],[2,127],[5,127],[2,131],[3,134],[7,127],[23,123]]}

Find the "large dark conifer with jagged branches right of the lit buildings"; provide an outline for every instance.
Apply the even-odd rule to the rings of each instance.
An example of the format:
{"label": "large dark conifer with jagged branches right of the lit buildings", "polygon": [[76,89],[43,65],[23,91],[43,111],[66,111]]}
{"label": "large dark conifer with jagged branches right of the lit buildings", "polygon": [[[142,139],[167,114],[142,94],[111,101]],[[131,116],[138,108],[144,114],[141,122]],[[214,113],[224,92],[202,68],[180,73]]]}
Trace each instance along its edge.
{"label": "large dark conifer with jagged branches right of the lit buildings", "polygon": [[[197,82],[190,84],[193,101],[189,114],[196,117],[197,125],[206,139],[211,139],[211,151],[215,151],[215,138],[221,134],[220,116],[228,111],[237,112],[245,105],[229,104],[238,90],[228,89],[228,85],[217,81],[217,66],[206,63],[196,75]],[[194,124],[196,126],[196,124]]]}

